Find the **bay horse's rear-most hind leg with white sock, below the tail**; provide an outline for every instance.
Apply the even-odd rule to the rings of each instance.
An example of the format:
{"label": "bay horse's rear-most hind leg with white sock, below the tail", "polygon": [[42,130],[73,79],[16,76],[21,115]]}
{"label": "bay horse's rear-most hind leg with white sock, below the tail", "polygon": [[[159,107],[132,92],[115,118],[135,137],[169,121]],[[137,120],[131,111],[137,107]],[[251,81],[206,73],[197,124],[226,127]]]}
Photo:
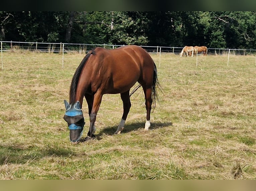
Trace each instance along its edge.
{"label": "bay horse's rear-most hind leg with white sock, below the tail", "polygon": [[151,86],[142,86],[144,94],[145,94],[145,105],[147,110],[147,116],[146,116],[146,123],[144,130],[148,130],[150,127],[150,112],[151,112],[151,105],[152,105],[152,97],[151,97]]}

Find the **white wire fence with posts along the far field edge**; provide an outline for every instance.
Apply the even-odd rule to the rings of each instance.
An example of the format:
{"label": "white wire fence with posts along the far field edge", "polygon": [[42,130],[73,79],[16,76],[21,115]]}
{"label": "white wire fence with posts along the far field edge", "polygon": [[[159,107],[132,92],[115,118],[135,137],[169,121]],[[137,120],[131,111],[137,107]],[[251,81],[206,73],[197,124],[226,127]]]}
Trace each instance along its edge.
{"label": "white wire fence with posts along the far field edge", "polygon": [[[109,45],[109,44],[72,44],[72,43],[39,43],[39,42],[15,42],[15,41],[0,41],[1,42],[1,63],[3,69],[3,52],[29,51],[29,52],[46,52],[50,54],[62,55],[62,67],[64,64],[64,55],[67,53],[86,54],[95,47],[103,47],[106,49],[115,49],[124,45]],[[183,47],[163,47],[163,46],[141,46],[150,54],[159,55],[159,65],[161,62],[161,54],[180,55]],[[200,53],[199,53],[200,55]],[[208,48],[207,55],[222,55],[227,56],[229,62],[230,55],[256,56],[256,50],[253,49],[218,49]],[[255,60],[256,64],[256,60]]]}

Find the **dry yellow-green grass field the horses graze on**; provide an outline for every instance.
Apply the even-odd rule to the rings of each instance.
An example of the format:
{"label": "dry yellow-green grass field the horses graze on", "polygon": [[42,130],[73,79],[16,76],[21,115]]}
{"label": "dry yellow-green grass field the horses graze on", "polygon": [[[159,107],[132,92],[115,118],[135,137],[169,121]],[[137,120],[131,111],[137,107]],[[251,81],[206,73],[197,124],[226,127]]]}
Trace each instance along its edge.
{"label": "dry yellow-green grass field the horses graze on", "polygon": [[142,89],[118,135],[120,95],[104,95],[97,139],[73,145],[63,99],[84,55],[62,68],[61,55],[3,53],[0,179],[255,179],[255,56],[151,56],[163,94],[150,130]]}

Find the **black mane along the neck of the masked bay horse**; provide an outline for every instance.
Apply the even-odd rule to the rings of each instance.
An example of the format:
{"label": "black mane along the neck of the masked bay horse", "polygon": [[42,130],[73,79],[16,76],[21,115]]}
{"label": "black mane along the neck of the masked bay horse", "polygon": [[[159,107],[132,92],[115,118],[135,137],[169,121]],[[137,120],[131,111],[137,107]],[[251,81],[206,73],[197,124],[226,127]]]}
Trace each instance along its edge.
{"label": "black mane along the neck of the masked bay horse", "polygon": [[69,102],[71,105],[74,105],[76,103],[76,90],[77,90],[77,83],[79,80],[79,77],[81,75],[82,69],[84,68],[88,58],[91,56],[91,54],[95,55],[95,48],[93,50],[91,50],[89,53],[87,53],[87,55],[84,57],[84,59],[81,61],[80,65],[78,66],[72,81],[71,81],[71,85],[70,85],[70,91],[69,91]]}

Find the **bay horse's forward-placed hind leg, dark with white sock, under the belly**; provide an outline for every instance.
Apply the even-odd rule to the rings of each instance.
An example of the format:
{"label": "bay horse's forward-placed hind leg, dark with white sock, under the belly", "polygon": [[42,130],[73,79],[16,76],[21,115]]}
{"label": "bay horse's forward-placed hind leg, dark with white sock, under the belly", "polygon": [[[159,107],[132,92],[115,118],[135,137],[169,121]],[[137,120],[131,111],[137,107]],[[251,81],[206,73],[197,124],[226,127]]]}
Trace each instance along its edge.
{"label": "bay horse's forward-placed hind leg, dark with white sock, under the belly", "polygon": [[122,119],[118,125],[118,128],[115,132],[115,134],[119,134],[123,128],[124,128],[124,124],[125,124],[125,120],[127,118],[127,115],[130,111],[130,108],[131,108],[131,101],[130,101],[130,95],[129,95],[129,92],[130,90],[128,90],[127,92],[124,92],[121,95],[121,99],[123,101],[123,109],[124,109],[124,112],[123,112],[123,116],[122,116]]}

